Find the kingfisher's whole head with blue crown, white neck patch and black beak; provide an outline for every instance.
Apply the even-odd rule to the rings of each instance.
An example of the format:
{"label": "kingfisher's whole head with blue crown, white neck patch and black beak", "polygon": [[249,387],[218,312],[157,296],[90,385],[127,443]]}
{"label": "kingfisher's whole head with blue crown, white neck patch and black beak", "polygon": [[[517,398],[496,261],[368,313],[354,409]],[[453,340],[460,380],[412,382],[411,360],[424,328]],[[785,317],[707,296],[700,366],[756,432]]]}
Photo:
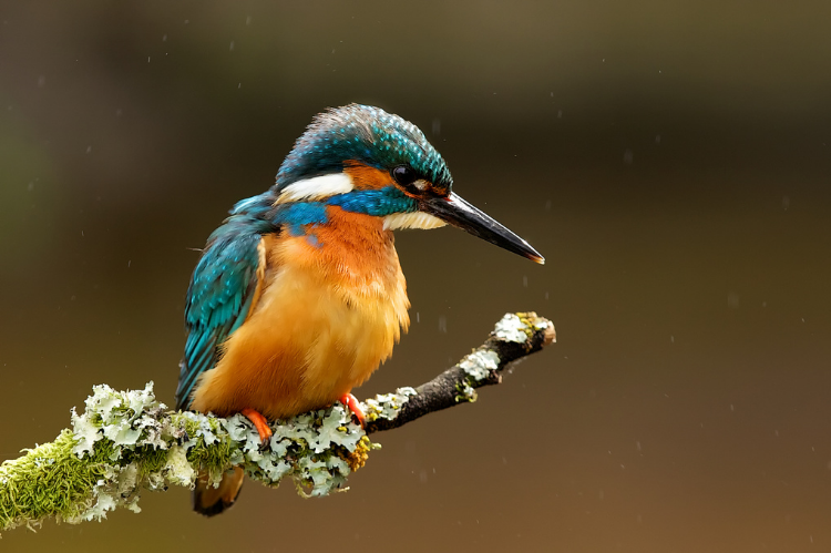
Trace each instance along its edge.
{"label": "kingfisher's whole head with blue crown, white neck patch and black beak", "polygon": [[451,224],[544,263],[527,242],[453,192],[453,177],[424,133],[378,107],[350,104],[317,115],[283,162],[273,193],[293,223],[322,223],[326,207],[338,206],[382,217],[387,229]]}

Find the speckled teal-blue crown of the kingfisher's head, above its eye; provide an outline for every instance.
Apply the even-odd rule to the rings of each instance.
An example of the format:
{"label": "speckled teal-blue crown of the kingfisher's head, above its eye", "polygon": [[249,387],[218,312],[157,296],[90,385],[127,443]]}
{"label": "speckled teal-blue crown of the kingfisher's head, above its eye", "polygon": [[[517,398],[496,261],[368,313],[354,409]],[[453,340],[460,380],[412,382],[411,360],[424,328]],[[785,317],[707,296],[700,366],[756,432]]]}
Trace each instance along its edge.
{"label": "speckled teal-blue crown of the kingfisher's head, above its eye", "polygon": [[318,114],[277,173],[275,192],[304,178],[343,170],[356,161],[389,171],[412,167],[421,178],[450,191],[453,177],[418,126],[371,105],[350,104]]}

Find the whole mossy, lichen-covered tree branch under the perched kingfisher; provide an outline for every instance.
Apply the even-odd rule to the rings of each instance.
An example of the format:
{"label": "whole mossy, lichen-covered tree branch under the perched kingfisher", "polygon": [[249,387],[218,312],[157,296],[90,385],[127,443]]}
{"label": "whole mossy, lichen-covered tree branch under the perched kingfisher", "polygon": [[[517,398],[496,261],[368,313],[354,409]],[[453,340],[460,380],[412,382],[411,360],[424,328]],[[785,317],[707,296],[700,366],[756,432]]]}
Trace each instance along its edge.
{"label": "whole mossy, lichen-covered tree branch under the perched kingfisher", "polygon": [[259,434],[242,414],[168,411],[153,382],[121,392],[95,386],[72,429],[0,465],[0,530],[40,525],[52,516],[79,523],[125,506],[138,512],[142,489],[193,487],[198,473],[214,483],[232,467],[266,485],[284,477],[305,496],[343,491],[346,479],[377,447],[367,434],[476,399],[476,388],[499,383],[513,361],[555,341],[554,326],[534,313],[507,314],[488,340],[458,365],[419,388],[399,388],[365,403],[366,429],[336,403],[271,424]]}

